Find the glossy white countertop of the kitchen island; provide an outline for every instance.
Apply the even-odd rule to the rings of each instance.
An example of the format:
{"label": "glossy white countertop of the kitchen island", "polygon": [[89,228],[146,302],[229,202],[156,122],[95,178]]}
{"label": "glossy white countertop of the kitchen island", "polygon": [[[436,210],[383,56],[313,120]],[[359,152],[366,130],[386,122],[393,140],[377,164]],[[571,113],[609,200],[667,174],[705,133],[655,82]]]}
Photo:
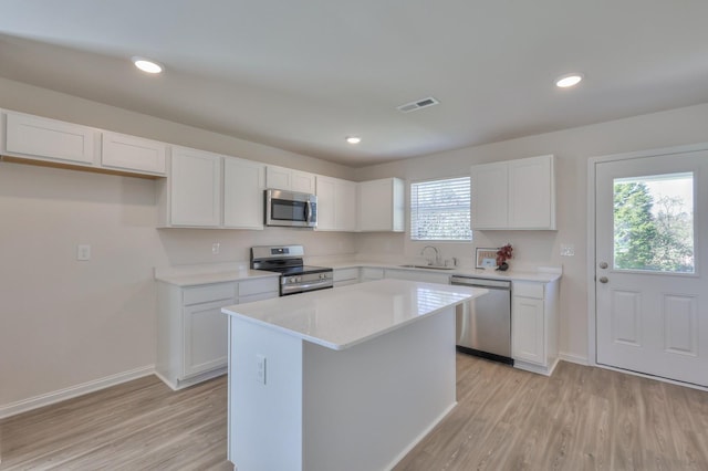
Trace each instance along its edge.
{"label": "glossy white countertop of the kitchen island", "polygon": [[221,311],[341,350],[486,293],[467,286],[379,280]]}

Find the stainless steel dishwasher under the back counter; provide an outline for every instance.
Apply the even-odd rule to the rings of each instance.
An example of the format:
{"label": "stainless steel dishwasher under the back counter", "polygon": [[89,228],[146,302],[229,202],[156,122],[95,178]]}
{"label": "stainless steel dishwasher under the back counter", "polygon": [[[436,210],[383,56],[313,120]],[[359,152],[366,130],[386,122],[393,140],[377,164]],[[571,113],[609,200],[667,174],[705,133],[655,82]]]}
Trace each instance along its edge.
{"label": "stainless steel dishwasher under the back counter", "polygon": [[454,275],[450,284],[483,287],[488,294],[457,306],[457,349],[513,365],[511,358],[511,282]]}

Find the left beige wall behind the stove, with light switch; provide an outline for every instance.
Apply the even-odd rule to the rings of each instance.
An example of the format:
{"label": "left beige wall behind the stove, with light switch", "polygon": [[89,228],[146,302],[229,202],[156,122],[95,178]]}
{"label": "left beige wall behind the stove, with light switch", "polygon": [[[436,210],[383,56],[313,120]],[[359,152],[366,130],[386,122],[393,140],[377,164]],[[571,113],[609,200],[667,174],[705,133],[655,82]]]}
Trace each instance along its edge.
{"label": "left beige wall behind the stove, with light switch", "polygon": [[[17,82],[0,80],[0,107],[335,177],[351,172]],[[312,255],[355,250],[354,236],[344,233],[158,230],[156,187],[0,161],[0,416],[18,401],[152,367],[154,266],[248,261],[248,249],[261,243],[302,243]],[[91,261],[75,260],[79,243],[91,244]]]}

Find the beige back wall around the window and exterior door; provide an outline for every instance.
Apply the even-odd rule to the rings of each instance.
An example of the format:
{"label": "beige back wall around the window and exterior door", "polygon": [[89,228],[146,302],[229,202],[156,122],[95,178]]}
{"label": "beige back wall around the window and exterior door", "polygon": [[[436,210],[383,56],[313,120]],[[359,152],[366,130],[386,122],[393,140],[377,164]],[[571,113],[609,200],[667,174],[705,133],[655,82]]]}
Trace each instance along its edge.
{"label": "beige back wall around the window and exterior door", "polygon": [[[475,247],[511,242],[516,266],[563,265],[560,349],[569,357],[587,357],[587,159],[593,156],[708,142],[708,104],[556,133],[469,147],[421,158],[357,169],[357,179],[402,177],[419,180],[466,175],[469,166],[554,154],[558,156],[558,231],[477,231],[473,243],[438,244],[442,257],[472,264]],[[708,243],[708,241],[706,241]],[[357,250],[378,257],[416,257],[424,244],[405,234],[360,236]],[[575,245],[575,257],[561,257],[561,243]]]}

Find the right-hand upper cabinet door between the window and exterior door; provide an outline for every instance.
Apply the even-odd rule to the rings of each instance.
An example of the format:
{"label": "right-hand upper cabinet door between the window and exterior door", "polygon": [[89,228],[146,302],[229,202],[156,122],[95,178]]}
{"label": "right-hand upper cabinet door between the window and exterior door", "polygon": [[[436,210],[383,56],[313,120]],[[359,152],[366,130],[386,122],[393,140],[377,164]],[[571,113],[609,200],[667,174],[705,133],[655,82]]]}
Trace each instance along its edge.
{"label": "right-hand upper cabinet door between the window and exterior door", "polygon": [[509,228],[555,229],[551,156],[509,161]]}

